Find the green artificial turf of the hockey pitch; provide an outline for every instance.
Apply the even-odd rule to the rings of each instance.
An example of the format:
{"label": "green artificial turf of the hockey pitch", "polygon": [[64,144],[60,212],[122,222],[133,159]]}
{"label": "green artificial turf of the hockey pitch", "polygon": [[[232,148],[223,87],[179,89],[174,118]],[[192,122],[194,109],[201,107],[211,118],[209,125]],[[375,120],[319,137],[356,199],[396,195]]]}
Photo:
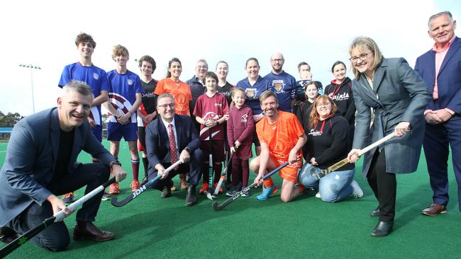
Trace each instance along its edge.
{"label": "green artificial turf of the hockey pitch", "polygon": [[[107,142],[104,142],[109,146]],[[0,143],[3,164],[6,143]],[[128,147],[121,142],[121,163],[128,178],[121,183],[123,199],[130,194]],[[79,161],[90,162],[87,154]],[[406,161],[401,161],[406,163]],[[124,207],[102,202],[95,224],[113,231],[113,241],[71,241],[67,251],[52,253],[33,243],[9,258],[460,258],[461,214],[457,207],[457,185],[449,166],[448,214],[427,217],[421,209],[431,204],[432,192],[421,156],[418,171],[397,176],[394,232],[372,238],[377,218],[370,212],[377,206],[366,180],[362,162],[357,163],[355,180],[365,192],[361,199],[328,204],[306,192],[293,202],[283,203],[279,194],[267,201],[256,200],[260,189],[241,197],[221,212],[199,195],[199,203],[185,207],[186,191],[172,192],[160,199],[158,190],[147,190]],[[142,166],[141,166],[142,168]],[[143,175],[143,170],[140,170]],[[250,175],[250,181],[254,175]],[[175,178],[178,185],[179,180]],[[281,179],[274,182],[280,186]],[[82,197],[82,190],[77,191]],[[218,202],[226,197],[221,195]],[[74,215],[65,219],[72,234]],[[0,247],[3,244],[0,245]]]}

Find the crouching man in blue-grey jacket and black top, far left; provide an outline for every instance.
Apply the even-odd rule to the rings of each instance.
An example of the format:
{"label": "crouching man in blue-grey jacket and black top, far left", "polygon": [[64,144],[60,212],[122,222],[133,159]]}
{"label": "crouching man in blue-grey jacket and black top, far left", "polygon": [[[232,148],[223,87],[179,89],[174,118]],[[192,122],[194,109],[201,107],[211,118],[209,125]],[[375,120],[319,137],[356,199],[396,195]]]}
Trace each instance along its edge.
{"label": "crouching man in blue-grey jacket and black top, far left", "polygon": [[[120,163],[91,133],[87,120],[93,101],[91,88],[70,81],[62,91],[57,108],[30,115],[13,128],[0,171],[2,241],[11,241],[14,232],[23,234],[60,210],[67,216],[72,214],[57,195],[85,185],[85,194],[91,192],[109,179],[111,171],[117,181],[126,178]],[[82,150],[101,163],[77,163]],[[77,212],[74,239],[113,238],[113,233],[92,223],[102,195],[92,197]],[[52,224],[31,240],[50,251],[62,251],[70,242],[64,221]]]}

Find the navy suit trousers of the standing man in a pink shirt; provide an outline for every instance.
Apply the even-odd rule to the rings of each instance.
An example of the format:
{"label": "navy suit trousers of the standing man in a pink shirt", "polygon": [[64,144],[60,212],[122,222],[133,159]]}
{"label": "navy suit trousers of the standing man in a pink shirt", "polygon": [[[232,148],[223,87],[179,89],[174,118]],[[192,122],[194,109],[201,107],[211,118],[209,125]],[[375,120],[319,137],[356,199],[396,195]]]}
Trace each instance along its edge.
{"label": "navy suit trousers of the standing man in a pink shirt", "polygon": [[461,117],[452,117],[439,125],[426,123],[424,155],[428,165],[433,202],[448,205],[448,156],[452,152],[453,171],[457,180],[458,207],[461,211]]}

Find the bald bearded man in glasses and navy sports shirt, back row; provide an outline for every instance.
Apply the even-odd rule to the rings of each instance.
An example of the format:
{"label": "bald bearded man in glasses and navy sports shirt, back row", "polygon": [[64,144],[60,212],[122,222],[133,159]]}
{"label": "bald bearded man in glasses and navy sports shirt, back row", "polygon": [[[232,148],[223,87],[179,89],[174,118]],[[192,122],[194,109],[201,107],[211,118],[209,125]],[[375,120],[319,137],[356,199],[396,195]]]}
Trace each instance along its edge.
{"label": "bald bearded man in glasses and navy sports shirt, back row", "polygon": [[275,52],[270,57],[272,71],[267,74],[264,79],[272,85],[272,91],[277,94],[279,99],[279,110],[285,112],[293,112],[293,105],[296,98],[296,79],[293,76],[283,71],[285,59],[283,54]]}

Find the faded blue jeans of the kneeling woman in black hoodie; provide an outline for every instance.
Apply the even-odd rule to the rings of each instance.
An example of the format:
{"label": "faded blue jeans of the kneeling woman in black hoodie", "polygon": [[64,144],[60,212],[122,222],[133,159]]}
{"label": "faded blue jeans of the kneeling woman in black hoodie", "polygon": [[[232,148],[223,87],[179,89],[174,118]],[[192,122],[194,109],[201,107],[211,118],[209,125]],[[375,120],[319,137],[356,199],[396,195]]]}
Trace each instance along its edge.
{"label": "faded blue jeans of the kneeling woman in black hoodie", "polygon": [[323,178],[317,179],[311,176],[311,168],[316,168],[310,163],[305,163],[298,175],[298,180],[305,187],[318,188],[321,199],[324,202],[340,202],[352,193],[352,180],[355,169],[346,171],[334,171]]}

